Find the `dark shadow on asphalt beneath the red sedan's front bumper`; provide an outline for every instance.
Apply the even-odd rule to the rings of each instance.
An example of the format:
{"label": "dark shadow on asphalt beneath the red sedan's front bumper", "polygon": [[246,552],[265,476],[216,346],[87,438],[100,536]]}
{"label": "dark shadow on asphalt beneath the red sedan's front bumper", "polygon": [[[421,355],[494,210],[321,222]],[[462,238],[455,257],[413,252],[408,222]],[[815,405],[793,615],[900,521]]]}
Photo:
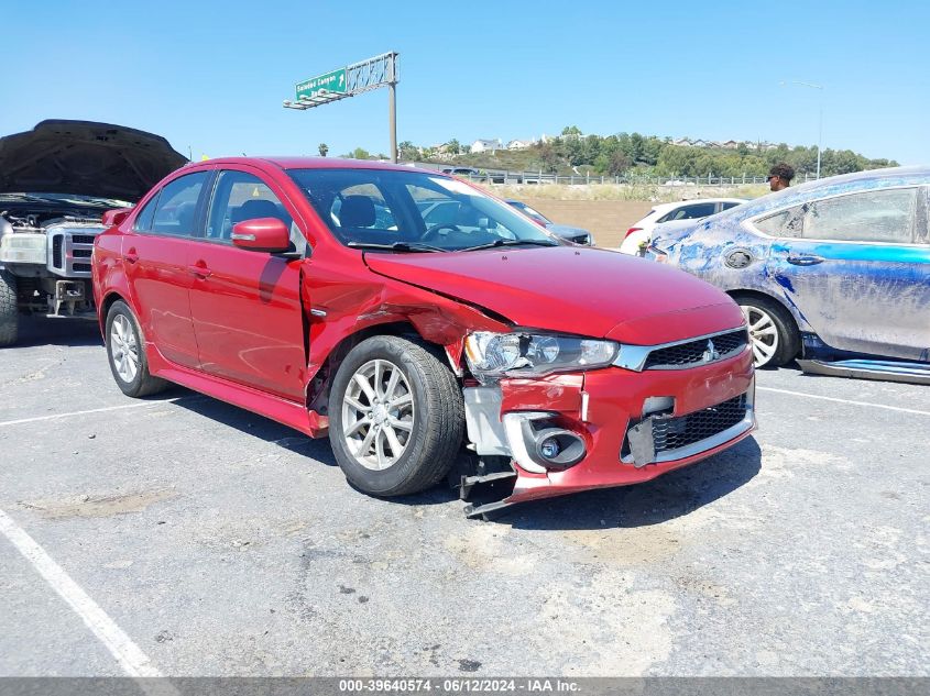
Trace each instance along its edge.
{"label": "dark shadow on asphalt beneath the red sedan's front bumper", "polygon": [[723,498],[761,468],[762,450],[754,438],[747,438],[730,450],[646,483],[505,508],[495,521],[525,530],[661,524]]}

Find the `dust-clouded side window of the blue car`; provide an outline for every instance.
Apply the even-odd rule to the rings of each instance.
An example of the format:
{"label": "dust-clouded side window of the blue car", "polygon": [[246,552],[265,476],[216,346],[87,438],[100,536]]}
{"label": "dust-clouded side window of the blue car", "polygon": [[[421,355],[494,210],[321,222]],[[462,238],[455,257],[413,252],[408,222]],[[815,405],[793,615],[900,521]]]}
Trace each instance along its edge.
{"label": "dust-clouded side window of the blue car", "polygon": [[913,242],[917,188],[862,191],[808,203],[803,236],[844,242]]}

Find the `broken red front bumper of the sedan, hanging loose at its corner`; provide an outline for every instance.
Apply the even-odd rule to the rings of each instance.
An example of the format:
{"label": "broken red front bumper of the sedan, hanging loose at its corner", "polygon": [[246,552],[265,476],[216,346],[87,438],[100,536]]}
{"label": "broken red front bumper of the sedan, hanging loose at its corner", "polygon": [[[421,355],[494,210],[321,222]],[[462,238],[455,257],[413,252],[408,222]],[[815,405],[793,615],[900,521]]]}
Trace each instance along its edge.
{"label": "broken red front bumper of the sedan, hanging loose at its corner", "polygon": [[[747,349],[690,369],[609,367],[466,389],[474,449],[479,455],[512,457],[516,474],[507,497],[469,513],[642,483],[734,445],[756,427],[752,363]],[[479,415],[475,398],[482,401]],[[540,465],[532,433],[554,429],[583,442],[576,463]]]}

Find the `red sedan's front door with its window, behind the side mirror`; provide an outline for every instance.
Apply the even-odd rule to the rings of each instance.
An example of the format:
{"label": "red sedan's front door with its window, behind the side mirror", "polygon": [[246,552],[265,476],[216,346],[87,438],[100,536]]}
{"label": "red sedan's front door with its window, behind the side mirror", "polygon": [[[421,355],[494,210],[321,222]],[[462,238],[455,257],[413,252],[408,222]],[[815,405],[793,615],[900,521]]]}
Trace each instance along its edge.
{"label": "red sedan's front door with its window, behind the side mirror", "polygon": [[306,380],[299,258],[232,245],[238,222],[278,218],[295,250],[306,243],[284,195],[248,167],[219,172],[206,234],[193,252],[197,270],[190,312],[200,368],[262,391],[300,401]]}

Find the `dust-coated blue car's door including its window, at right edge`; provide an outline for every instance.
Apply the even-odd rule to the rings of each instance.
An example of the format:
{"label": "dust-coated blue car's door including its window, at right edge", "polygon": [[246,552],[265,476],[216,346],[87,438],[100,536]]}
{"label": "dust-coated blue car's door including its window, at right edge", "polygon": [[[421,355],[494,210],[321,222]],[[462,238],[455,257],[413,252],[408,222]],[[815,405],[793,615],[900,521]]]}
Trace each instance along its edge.
{"label": "dust-coated blue car's door including its window, at right edge", "polygon": [[769,275],[830,346],[928,360],[926,189],[857,191],[758,221],[777,229]]}

